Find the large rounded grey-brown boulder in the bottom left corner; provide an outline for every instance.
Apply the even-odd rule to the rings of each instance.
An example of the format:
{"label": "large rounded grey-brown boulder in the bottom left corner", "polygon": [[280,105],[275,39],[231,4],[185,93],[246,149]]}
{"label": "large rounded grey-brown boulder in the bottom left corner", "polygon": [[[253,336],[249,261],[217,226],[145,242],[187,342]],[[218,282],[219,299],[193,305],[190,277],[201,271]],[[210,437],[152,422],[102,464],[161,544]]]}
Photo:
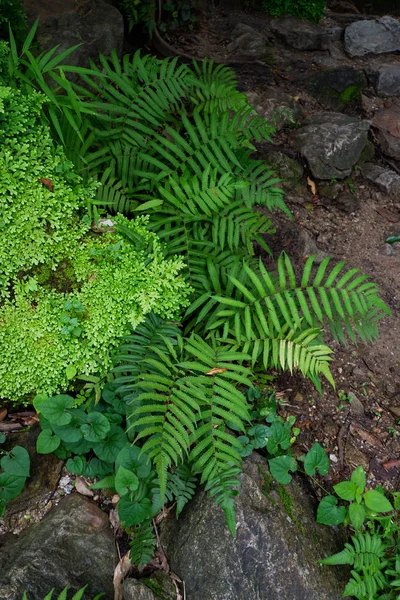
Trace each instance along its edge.
{"label": "large rounded grey-brown boulder in the bottom left corner", "polygon": [[18,536],[0,538],[0,598],[43,600],[70,585],[88,584],[87,597],[100,592],[111,600],[114,537],[108,517],[96,504],[72,494]]}

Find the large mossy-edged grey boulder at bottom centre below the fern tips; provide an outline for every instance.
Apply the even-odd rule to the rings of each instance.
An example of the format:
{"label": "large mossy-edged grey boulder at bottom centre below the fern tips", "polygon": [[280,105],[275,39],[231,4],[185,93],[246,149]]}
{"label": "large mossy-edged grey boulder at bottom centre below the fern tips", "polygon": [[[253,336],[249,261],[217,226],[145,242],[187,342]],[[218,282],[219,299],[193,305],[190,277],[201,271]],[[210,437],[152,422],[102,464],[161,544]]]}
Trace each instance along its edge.
{"label": "large mossy-edged grey boulder at bottom centre below the fern tips", "polygon": [[341,544],[314,511],[300,480],[275,485],[265,459],[253,454],[241,476],[235,539],[202,492],[178,521],[163,524],[161,541],[190,600],[339,600],[343,569],[317,560]]}

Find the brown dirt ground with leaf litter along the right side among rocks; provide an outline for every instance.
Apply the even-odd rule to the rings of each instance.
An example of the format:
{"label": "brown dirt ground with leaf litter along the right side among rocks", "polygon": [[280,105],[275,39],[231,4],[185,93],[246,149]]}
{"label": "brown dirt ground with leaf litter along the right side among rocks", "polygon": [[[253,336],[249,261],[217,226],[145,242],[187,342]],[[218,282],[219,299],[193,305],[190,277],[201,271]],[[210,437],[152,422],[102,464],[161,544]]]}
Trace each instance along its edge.
{"label": "brown dirt ground with leaf litter along the right side among rocks", "polygon": [[[338,19],[339,23],[335,20]],[[322,27],[340,25],[347,17],[331,14],[321,22]],[[310,77],[326,68],[327,52],[298,51],[274,42],[266,62],[233,55],[229,51],[231,33],[237,23],[245,23],[258,31],[268,31],[270,18],[245,11],[213,10],[199,15],[195,32],[170,35],[169,41],[186,54],[196,57],[213,57],[218,62],[229,63],[236,71],[239,87],[245,92],[265,93],[266,87],[295,97],[307,116],[327,107],[312,98],[308,92]],[[370,57],[350,59],[336,44],[336,62],[360,70],[368,66]],[[395,64],[398,55],[374,56],[374,63]],[[329,62],[327,62],[329,64]],[[385,106],[396,99],[385,100]],[[362,106],[343,109],[351,115],[370,118],[371,107],[382,106],[382,99],[374,97],[372,90],[365,92]],[[335,350],[332,372],[337,389],[324,386],[323,395],[301,376],[278,376],[276,389],[282,397],[281,412],[297,417],[301,428],[298,438],[299,453],[319,441],[331,457],[332,469],[326,479],[336,483],[349,476],[359,464],[368,473],[368,481],[384,485],[387,489],[400,489],[400,250],[387,255],[385,239],[400,234],[400,203],[380,192],[373,184],[354,171],[350,186],[342,185],[350,204],[340,205],[323,196],[322,187],[327,182],[315,182],[317,193],[307,188],[310,175],[307,164],[296,153],[293,130],[282,130],[273,139],[274,150],[296,158],[305,169],[305,193],[301,202],[286,189],[286,202],[294,220],[285,215],[275,215],[277,228],[271,248],[277,256],[285,250],[302,265],[309,253],[330,255],[333,261],[346,260],[349,266],[359,268],[371,276],[381,287],[384,301],[392,311],[390,317],[380,322],[380,336],[375,343],[338,345],[326,340]],[[376,146],[376,144],[375,144]],[[374,163],[400,172],[400,164],[388,161],[376,146]],[[259,156],[268,160],[271,145],[259,148]],[[328,182],[329,183],[329,182]],[[285,189],[285,183],[282,183]],[[297,194],[298,195],[298,194]],[[272,263],[271,263],[272,264]],[[333,263],[334,264],[334,263]],[[391,463],[388,461],[397,461]],[[391,464],[394,466],[391,467]]]}

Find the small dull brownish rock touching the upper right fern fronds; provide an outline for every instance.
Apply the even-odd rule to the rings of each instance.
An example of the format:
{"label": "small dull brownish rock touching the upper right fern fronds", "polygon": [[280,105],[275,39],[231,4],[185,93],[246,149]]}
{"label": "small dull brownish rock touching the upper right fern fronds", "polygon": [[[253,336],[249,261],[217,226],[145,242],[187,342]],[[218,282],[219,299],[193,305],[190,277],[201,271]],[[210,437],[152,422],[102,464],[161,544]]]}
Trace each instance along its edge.
{"label": "small dull brownish rock touching the upper right fern fronds", "polygon": [[260,117],[264,117],[277,131],[298,121],[302,110],[298,102],[275,88],[260,92],[245,92],[249,104],[254,106]]}

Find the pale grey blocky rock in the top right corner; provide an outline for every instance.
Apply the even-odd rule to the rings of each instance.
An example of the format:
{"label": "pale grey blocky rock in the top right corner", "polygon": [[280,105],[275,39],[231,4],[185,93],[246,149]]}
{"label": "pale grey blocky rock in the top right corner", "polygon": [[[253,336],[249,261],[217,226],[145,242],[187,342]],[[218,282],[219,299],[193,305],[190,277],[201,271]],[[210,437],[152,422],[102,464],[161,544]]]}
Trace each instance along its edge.
{"label": "pale grey blocky rock in the top right corner", "polygon": [[350,56],[398,52],[400,23],[386,16],[373,21],[356,21],[346,27],[344,47]]}

